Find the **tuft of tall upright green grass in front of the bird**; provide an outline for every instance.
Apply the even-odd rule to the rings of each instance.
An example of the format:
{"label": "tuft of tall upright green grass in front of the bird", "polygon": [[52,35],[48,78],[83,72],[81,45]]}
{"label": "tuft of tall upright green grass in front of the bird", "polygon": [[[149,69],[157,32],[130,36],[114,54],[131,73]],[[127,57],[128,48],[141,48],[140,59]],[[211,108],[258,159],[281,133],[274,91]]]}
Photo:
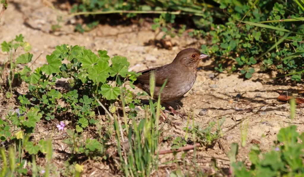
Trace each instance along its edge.
{"label": "tuft of tall upright green grass in front of the bird", "polygon": [[[158,168],[158,141],[160,131],[158,127],[160,109],[161,109],[161,94],[158,96],[157,106],[154,107],[153,95],[155,91],[155,75],[150,74],[150,95],[149,107],[146,109],[144,119],[137,123],[136,117],[132,117],[132,126],[128,128],[127,117],[125,112],[124,95],[121,94],[121,101],[123,106],[123,116],[126,127],[126,134],[128,137],[129,148],[124,148],[123,130],[119,125],[119,121],[114,118],[114,129],[116,132],[116,142],[118,148],[118,154],[120,162],[118,163],[120,169],[124,172],[125,176],[150,176]],[[164,85],[159,90],[160,93],[163,90]],[[147,114],[149,111],[150,114]],[[122,148],[121,148],[122,145]],[[123,151],[122,151],[123,149]],[[124,154],[124,155],[123,155]],[[156,155],[154,155],[156,154]]]}

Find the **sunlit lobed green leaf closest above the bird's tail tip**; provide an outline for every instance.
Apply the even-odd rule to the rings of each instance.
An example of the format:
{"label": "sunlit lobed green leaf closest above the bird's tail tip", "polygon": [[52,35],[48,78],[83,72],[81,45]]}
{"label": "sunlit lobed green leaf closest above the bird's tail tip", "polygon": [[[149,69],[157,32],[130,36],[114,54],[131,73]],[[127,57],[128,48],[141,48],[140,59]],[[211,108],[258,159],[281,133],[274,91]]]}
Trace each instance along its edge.
{"label": "sunlit lobed green leaf closest above the bird's tail tip", "polygon": [[110,76],[120,75],[122,77],[127,77],[128,67],[130,66],[127,58],[123,56],[114,56],[111,58],[111,61]]}

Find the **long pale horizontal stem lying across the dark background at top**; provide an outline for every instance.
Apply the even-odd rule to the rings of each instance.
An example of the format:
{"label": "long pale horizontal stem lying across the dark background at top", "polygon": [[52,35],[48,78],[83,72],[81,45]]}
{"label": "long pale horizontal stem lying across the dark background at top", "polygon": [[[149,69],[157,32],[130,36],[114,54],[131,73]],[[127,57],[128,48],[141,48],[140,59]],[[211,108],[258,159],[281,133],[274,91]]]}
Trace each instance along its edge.
{"label": "long pale horizontal stem lying across the dark background at top", "polygon": [[135,14],[174,14],[174,15],[196,15],[196,16],[203,16],[202,13],[188,13],[188,12],[168,12],[168,11],[136,11],[136,10],[112,10],[112,11],[97,11],[97,12],[77,12],[72,13],[69,16],[76,16],[76,15],[97,15],[97,14],[113,14],[113,13],[135,13]]}

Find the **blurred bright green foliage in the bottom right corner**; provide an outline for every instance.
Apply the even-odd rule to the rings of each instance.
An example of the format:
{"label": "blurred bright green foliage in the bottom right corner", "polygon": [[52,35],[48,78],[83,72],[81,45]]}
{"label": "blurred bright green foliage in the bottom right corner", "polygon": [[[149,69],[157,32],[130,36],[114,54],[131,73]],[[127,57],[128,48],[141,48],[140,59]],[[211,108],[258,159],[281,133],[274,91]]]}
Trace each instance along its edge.
{"label": "blurred bright green foliage in the bottom right corner", "polygon": [[[282,128],[275,141],[273,150],[261,153],[253,146],[249,153],[252,163],[249,170],[243,162],[233,162],[233,174],[238,176],[302,176],[304,133],[299,134],[296,126]],[[301,140],[301,141],[299,141]],[[235,148],[237,150],[237,146]],[[237,155],[237,151],[234,151]]]}

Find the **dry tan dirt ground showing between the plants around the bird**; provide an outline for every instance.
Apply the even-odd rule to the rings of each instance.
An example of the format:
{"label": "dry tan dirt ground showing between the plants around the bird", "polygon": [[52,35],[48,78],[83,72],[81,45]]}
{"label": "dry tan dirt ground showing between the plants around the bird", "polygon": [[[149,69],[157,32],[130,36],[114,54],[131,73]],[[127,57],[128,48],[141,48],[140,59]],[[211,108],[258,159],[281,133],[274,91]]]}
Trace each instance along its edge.
{"label": "dry tan dirt ground showing between the plants around the bird", "polygon": [[[51,1],[50,1],[51,2]],[[154,39],[154,32],[150,30],[149,23],[143,23],[141,26],[133,25],[98,25],[90,32],[80,34],[74,32],[74,17],[67,17],[67,11],[54,10],[48,6],[49,2],[41,0],[12,0],[9,1],[8,9],[5,11],[0,22],[0,42],[12,40],[16,35],[22,33],[25,41],[33,46],[31,53],[33,59],[36,59],[41,52],[43,54],[32,66],[42,66],[46,63],[46,55],[50,55],[55,46],[61,44],[81,45],[87,49],[92,49],[97,53],[99,49],[106,49],[109,56],[121,55],[126,56],[131,63],[130,69],[134,71],[144,70],[150,67],[162,66],[170,63],[176,54],[185,48],[200,48],[204,41],[188,38],[187,36],[172,39],[176,46],[172,50],[160,49],[156,46],[147,46],[150,39]],[[51,2],[52,3],[52,2]],[[59,6],[61,9],[67,8],[66,4]],[[65,25],[58,32],[50,33],[51,25],[56,24],[57,15],[62,14]],[[161,35],[160,35],[161,36]],[[22,54],[23,51],[17,51],[16,55]],[[8,56],[0,52],[0,63],[3,63]],[[209,121],[216,120],[216,116],[224,117],[226,120],[223,124],[223,138],[211,148],[200,148],[196,154],[197,164],[199,167],[209,170],[212,166],[211,157],[216,158],[220,168],[228,168],[229,160],[226,153],[230,150],[232,142],[241,143],[241,124],[247,124],[248,135],[247,144],[244,148],[239,149],[239,160],[245,160],[249,163],[248,152],[253,143],[259,144],[263,151],[271,148],[276,134],[280,128],[289,124],[296,124],[298,131],[304,131],[303,108],[296,110],[295,119],[291,120],[289,116],[289,105],[278,102],[278,93],[273,90],[299,90],[303,89],[302,85],[287,84],[289,80],[283,83],[278,81],[267,80],[275,77],[275,73],[254,73],[250,80],[245,80],[239,74],[217,73],[214,69],[213,61],[207,60],[201,63],[198,68],[197,79],[192,89],[180,100],[171,102],[171,106],[181,106],[180,111],[186,113],[194,110],[194,121],[202,127],[206,126]],[[26,93],[26,87],[17,88],[21,94]],[[134,93],[140,91],[134,90]],[[241,97],[240,97],[241,95]],[[4,98],[0,98],[4,99]],[[2,100],[0,107],[0,116],[5,116],[10,106],[17,107],[15,99]],[[200,112],[202,113],[200,114]],[[231,114],[228,114],[231,113]],[[171,116],[172,118],[172,116]],[[243,121],[244,120],[244,121]],[[186,127],[187,121],[183,119],[173,120],[182,125],[171,126],[165,125],[164,136],[177,135],[185,136],[182,128]],[[39,123],[34,137],[46,136],[51,133],[50,127],[57,124],[58,121],[47,121]],[[55,135],[60,138],[60,133],[55,131]],[[64,161],[68,153],[64,152],[65,144],[62,140],[54,140],[54,167],[63,168]],[[168,143],[161,144],[161,149],[170,148]],[[172,154],[161,155],[161,162],[174,160]],[[181,153],[177,154],[181,158]],[[193,151],[189,151],[186,156],[186,162],[191,162]],[[41,158],[42,159],[42,158]],[[43,165],[41,160],[39,165]],[[113,162],[114,163],[114,162]],[[111,170],[109,162],[92,162],[84,163],[85,172],[83,176],[109,176],[118,175]],[[175,170],[176,165],[160,165],[159,172],[154,175],[165,176],[168,172]]]}

